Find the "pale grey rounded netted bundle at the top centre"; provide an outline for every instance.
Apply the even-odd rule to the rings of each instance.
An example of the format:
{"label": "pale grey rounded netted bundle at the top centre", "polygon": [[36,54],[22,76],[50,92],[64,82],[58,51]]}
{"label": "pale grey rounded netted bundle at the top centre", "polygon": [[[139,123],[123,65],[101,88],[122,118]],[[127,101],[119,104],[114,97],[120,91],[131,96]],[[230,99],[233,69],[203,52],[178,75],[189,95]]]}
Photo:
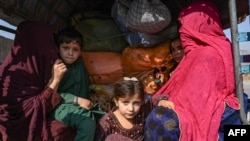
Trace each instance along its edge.
{"label": "pale grey rounded netted bundle at the top centre", "polygon": [[171,13],[160,0],[116,0],[113,6],[114,15],[132,32],[155,34],[171,22]]}

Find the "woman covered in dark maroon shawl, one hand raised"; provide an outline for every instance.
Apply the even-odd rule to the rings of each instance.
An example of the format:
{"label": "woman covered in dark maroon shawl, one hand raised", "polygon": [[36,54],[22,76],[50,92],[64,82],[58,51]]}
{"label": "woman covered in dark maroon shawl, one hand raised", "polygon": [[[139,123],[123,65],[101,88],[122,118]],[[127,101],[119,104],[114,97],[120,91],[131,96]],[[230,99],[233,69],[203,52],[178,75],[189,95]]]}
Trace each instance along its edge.
{"label": "woman covered in dark maroon shawl, one hand raised", "polygon": [[0,65],[0,140],[48,140],[46,116],[61,100],[56,89],[66,72],[57,58],[52,28],[19,24]]}

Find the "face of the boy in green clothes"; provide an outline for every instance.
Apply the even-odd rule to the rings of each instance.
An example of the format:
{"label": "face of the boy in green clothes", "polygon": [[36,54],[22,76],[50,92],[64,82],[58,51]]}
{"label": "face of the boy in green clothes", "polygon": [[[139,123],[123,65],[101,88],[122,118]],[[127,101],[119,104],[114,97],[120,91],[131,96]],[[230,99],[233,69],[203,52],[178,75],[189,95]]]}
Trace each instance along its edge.
{"label": "face of the boy in green clothes", "polygon": [[62,43],[59,46],[59,54],[63,62],[70,65],[81,55],[81,46],[76,41]]}

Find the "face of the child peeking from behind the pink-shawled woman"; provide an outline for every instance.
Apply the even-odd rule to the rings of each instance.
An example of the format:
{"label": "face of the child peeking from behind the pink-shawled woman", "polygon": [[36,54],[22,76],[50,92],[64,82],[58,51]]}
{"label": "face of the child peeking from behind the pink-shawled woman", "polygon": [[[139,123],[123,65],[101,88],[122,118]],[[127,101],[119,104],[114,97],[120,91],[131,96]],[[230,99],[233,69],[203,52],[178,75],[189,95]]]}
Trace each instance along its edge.
{"label": "face of the child peeking from behind the pink-shawled woman", "polygon": [[180,39],[176,39],[171,44],[172,56],[175,62],[180,63],[184,56],[184,50]]}

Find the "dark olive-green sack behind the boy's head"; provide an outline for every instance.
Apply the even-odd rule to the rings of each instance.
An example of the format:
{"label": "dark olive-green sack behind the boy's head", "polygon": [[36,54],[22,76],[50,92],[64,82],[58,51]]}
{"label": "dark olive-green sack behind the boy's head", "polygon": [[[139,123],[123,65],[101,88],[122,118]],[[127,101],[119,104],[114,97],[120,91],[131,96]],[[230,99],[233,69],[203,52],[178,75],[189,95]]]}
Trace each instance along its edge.
{"label": "dark olive-green sack behind the boy's head", "polygon": [[128,45],[113,19],[84,19],[75,29],[83,35],[84,51],[121,53]]}

